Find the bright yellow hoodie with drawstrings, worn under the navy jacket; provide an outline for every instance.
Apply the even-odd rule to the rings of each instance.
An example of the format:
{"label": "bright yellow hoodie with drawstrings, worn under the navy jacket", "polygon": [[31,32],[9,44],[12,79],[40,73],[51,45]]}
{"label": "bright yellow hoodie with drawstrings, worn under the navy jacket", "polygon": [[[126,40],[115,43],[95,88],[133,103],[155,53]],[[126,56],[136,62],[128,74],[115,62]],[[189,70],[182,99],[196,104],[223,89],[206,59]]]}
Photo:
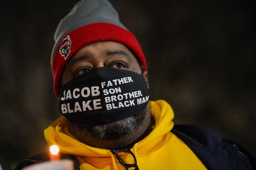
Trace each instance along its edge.
{"label": "bright yellow hoodie with drawstrings, worn under the navy jacket", "polygon": [[[193,151],[170,132],[174,125],[171,106],[164,100],[150,101],[150,106],[155,127],[131,148],[139,169],[206,169]],[[125,169],[110,150],[88,146],[70,134],[64,117],[45,129],[44,134],[49,145],[58,145],[61,153],[76,155],[81,170]],[[130,156],[121,158],[125,162],[133,162]]]}

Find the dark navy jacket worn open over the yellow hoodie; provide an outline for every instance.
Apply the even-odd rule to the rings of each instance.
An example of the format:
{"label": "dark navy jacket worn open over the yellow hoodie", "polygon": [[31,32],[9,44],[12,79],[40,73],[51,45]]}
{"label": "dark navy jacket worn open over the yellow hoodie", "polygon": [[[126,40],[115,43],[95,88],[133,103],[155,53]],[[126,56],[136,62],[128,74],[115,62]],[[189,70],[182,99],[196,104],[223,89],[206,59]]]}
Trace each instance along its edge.
{"label": "dark navy jacket worn open over the yellow hoodie", "polygon": [[[251,170],[256,169],[256,159],[237,143],[221,136],[209,128],[198,125],[174,125],[171,130],[197,155],[209,170]],[[61,154],[62,159],[71,159],[74,169],[80,170],[73,155]],[[15,170],[49,160],[49,153],[35,155],[20,162]],[[138,165],[139,167],[139,165]]]}

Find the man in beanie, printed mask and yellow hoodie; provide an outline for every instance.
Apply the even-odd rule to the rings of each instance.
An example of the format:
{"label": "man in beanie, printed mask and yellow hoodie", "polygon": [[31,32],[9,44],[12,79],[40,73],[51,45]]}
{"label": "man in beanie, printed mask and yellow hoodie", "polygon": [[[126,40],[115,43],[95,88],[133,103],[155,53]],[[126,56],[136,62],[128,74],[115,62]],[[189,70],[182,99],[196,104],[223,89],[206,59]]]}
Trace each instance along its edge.
{"label": "man in beanie, printed mask and yellow hoodie", "polygon": [[[196,125],[176,125],[163,100],[149,100],[147,66],[135,36],[106,0],[78,2],[61,20],[52,53],[63,115],[45,131],[75,169],[252,169],[234,142]],[[44,161],[26,159],[16,169]]]}

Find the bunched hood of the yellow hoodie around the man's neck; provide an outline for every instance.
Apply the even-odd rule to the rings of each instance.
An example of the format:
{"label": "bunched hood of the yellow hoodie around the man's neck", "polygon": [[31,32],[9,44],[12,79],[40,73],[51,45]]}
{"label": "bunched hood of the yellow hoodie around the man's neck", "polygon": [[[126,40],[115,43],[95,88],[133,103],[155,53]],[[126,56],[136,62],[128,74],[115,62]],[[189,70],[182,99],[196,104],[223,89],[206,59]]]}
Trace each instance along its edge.
{"label": "bunched hood of the yellow hoodie around the man's neck", "polygon": [[[147,155],[159,149],[164,142],[164,135],[173,128],[174,113],[164,100],[150,101],[151,114],[155,119],[154,129],[147,137],[136,143],[131,151],[135,156]],[[58,118],[44,130],[49,145],[57,145],[61,153],[88,157],[110,157],[110,150],[91,147],[80,142],[67,129],[65,117]]]}

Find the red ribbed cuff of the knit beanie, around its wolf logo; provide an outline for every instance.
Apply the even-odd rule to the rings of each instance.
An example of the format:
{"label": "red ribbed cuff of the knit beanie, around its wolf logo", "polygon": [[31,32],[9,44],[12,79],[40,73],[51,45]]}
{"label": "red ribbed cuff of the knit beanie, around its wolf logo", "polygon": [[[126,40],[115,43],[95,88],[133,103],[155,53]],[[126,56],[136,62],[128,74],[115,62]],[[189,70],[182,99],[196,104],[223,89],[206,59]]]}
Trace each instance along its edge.
{"label": "red ribbed cuff of the knit beanie, around its wolf logo", "polygon": [[[65,59],[59,52],[59,49],[61,48],[63,40],[66,39],[67,36],[69,36],[71,46],[70,53]],[[133,33],[109,23],[95,23],[85,25],[76,29],[75,31],[70,32],[62,39],[53,58],[52,72],[54,79],[54,92],[57,97],[59,97],[60,95],[59,81],[68,60],[75,52],[77,52],[77,50],[79,50],[83,46],[98,41],[115,41],[125,45],[128,49],[131,50],[131,52],[133,52],[136,57],[141,60],[142,64],[145,67],[145,71],[147,70],[146,60],[142,52],[141,46],[139,45]]]}

